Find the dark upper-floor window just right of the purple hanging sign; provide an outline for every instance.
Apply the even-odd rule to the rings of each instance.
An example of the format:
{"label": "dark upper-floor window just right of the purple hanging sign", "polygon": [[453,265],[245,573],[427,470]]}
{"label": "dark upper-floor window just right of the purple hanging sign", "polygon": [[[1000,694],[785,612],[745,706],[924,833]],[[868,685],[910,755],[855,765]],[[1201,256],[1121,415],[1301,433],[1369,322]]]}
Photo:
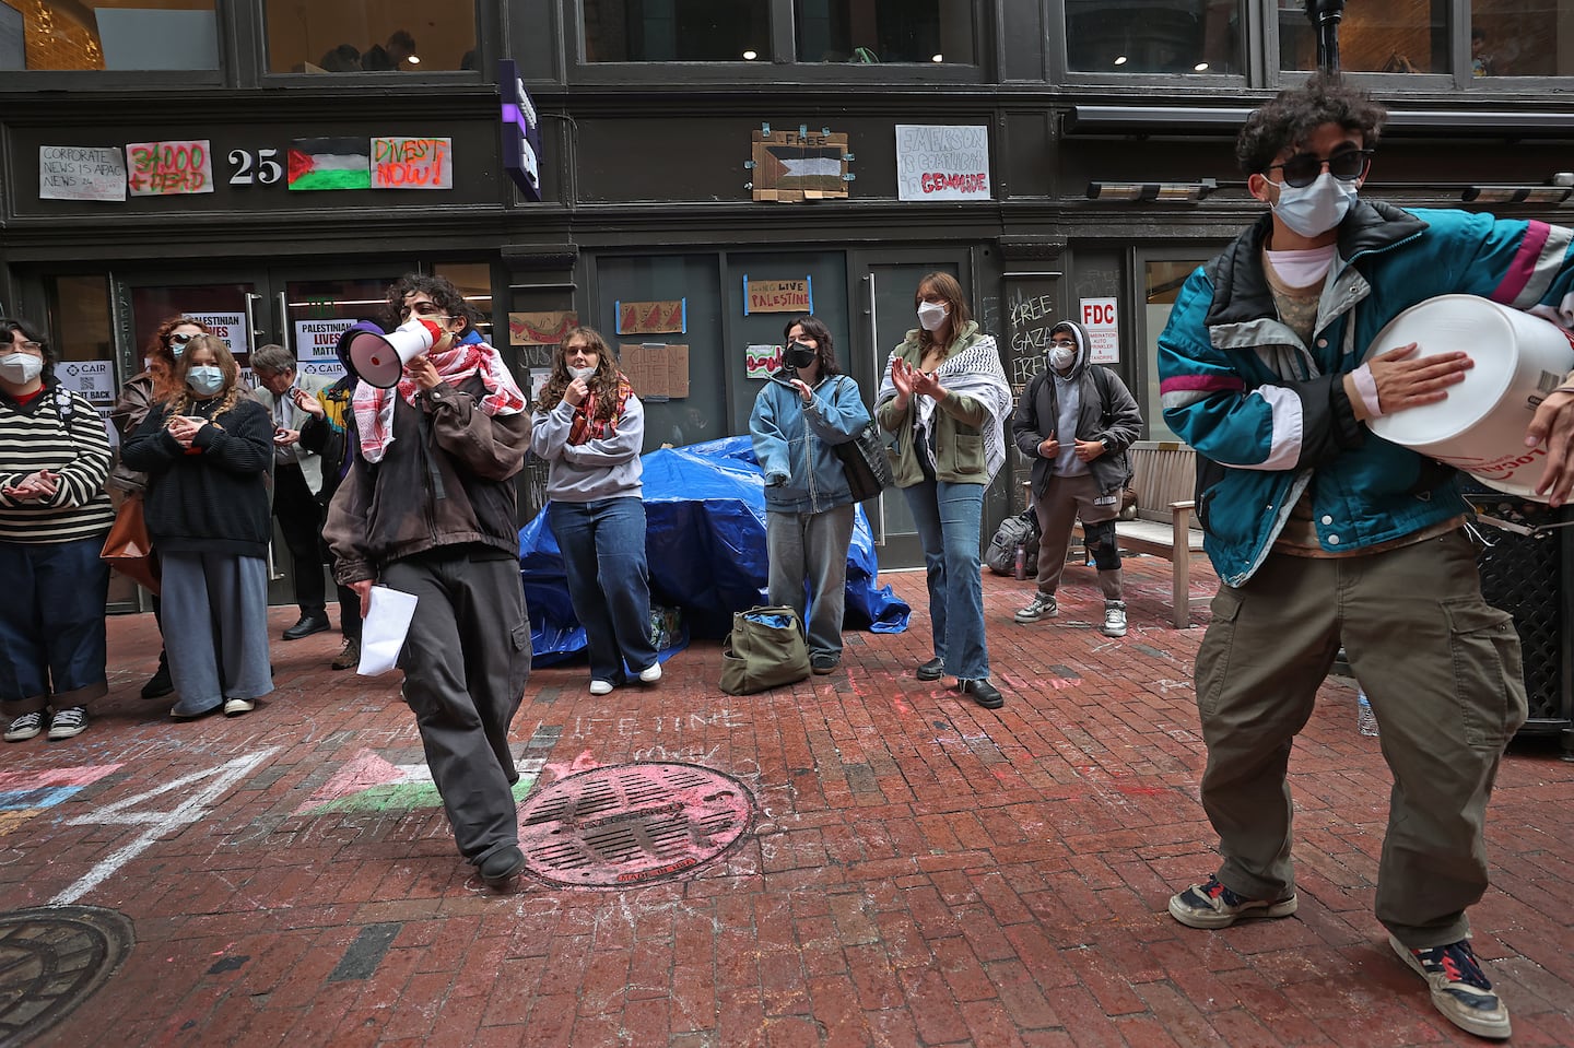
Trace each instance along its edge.
{"label": "dark upper-floor window just right of the purple hanging sign", "polygon": [[770,0],[584,0],[586,61],[771,60]]}

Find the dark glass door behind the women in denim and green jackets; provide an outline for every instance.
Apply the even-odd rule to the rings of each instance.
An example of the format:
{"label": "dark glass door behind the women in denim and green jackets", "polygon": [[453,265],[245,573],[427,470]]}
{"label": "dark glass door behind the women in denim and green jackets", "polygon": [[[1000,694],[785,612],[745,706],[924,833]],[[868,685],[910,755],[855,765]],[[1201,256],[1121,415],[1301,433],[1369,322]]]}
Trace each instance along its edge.
{"label": "dark glass door behind the women in denim and green jackets", "polygon": [[[908,330],[918,327],[913,296],[926,274],[949,272],[957,277],[963,293],[970,296],[970,305],[977,310],[966,249],[855,252],[850,255],[848,271],[856,275],[861,291],[855,299],[861,323],[853,326],[852,371],[858,384],[870,392],[870,400],[878,397],[891,351],[902,345]],[[924,549],[918,540],[918,526],[900,489],[889,488],[864,508],[875,530],[880,570],[922,568]]]}

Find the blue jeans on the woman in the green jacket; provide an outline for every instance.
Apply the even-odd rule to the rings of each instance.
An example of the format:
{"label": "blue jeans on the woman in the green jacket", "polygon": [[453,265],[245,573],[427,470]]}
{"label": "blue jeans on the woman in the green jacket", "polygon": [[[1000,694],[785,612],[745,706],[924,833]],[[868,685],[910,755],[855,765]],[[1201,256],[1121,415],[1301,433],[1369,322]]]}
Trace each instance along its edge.
{"label": "blue jeans on the woman in the green jacket", "polygon": [[924,480],[903,488],[918,522],[929,578],[929,622],[935,658],[959,680],[988,677],[984,640],[984,576],[979,565],[979,529],[984,524],[984,485]]}

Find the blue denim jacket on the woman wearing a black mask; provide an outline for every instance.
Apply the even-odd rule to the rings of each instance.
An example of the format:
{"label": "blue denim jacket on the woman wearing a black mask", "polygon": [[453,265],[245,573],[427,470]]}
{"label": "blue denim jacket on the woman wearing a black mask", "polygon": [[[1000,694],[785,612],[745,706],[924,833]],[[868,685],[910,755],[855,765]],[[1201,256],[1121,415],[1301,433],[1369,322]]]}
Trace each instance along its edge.
{"label": "blue denim jacket on the woman wearing a black mask", "polygon": [[869,425],[858,382],[826,375],[806,404],[778,371],[754,398],[749,437],[765,474],[765,508],[771,513],[825,513],[853,500],[842,459],[833,447]]}

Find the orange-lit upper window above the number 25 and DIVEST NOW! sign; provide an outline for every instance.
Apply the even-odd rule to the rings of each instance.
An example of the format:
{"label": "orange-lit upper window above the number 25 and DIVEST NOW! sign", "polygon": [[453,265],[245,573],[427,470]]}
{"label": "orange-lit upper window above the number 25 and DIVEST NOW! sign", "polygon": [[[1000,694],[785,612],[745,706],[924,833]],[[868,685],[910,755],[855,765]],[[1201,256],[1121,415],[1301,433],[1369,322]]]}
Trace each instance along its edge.
{"label": "orange-lit upper window above the number 25 and DIVEST NOW! sign", "polygon": [[[417,13],[417,14],[400,14]],[[378,0],[266,0],[269,72],[453,72],[475,69],[475,6]]]}

